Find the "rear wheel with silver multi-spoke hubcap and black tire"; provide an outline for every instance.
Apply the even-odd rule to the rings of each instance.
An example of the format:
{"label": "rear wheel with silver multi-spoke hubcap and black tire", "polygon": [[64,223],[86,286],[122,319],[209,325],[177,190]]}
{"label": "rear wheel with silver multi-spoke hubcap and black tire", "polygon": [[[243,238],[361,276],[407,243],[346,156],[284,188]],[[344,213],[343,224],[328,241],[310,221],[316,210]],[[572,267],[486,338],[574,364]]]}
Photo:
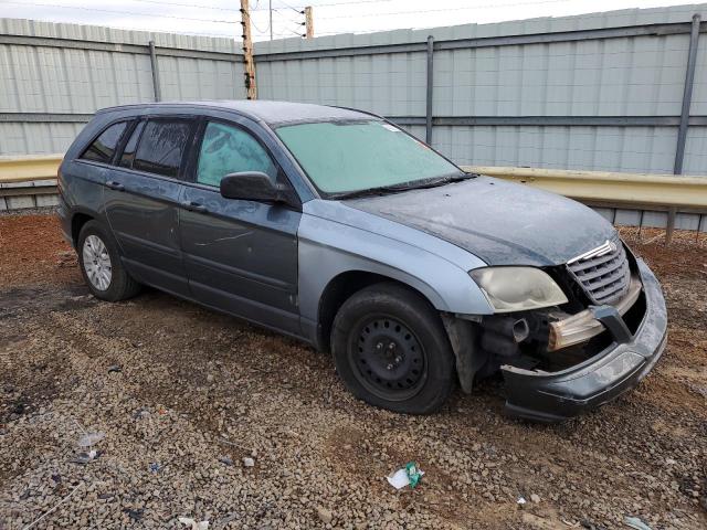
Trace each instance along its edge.
{"label": "rear wheel with silver multi-spoke hubcap and black tire", "polygon": [[140,284],[123,265],[116,241],[97,221],[88,221],[81,229],[76,253],[84,282],[96,298],[125,300],[140,290]]}

